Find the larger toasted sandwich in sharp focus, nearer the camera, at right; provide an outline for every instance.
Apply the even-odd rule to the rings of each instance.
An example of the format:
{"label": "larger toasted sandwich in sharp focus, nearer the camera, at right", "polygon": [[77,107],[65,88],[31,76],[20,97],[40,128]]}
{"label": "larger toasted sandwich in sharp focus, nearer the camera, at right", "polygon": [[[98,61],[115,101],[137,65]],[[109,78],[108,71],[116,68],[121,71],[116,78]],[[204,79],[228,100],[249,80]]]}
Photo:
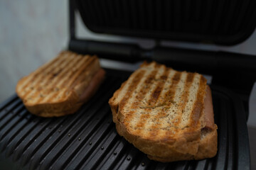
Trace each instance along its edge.
{"label": "larger toasted sandwich in sharp focus, nearer the camera, at right", "polygon": [[217,152],[210,88],[201,74],[144,62],[109,103],[119,135],[150,159],[204,159]]}

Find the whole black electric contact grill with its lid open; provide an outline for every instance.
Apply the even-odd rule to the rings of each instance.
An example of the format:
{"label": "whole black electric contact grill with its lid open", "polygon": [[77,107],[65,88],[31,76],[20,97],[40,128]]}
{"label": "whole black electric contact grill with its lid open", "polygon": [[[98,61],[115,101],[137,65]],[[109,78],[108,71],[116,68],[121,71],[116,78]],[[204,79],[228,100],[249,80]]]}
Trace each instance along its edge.
{"label": "whole black electric contact grill with its lid open", "polygon": [[16,169],[250,169],[246,121],[247,99],[256,80],[254,57],[80,40],[75,36],[75,12],[97,33],[233,45],[255,29],[255,1],[70,0],[69,5],[69,50],[122,62],[156,60],[174,69],[212,75],[218,153],[201,161],[148,159],[117,134],[107,103],[132,72],[106,69],[97,94],[73,115],[39,118],[28,113],[16,94],[1,103],[2,159]]}

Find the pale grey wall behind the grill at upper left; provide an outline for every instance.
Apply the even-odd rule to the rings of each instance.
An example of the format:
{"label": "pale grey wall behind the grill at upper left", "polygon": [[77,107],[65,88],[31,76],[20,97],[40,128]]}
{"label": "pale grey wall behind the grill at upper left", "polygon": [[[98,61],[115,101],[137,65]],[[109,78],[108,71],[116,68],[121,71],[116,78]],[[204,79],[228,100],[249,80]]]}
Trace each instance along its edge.
{"label": "pale grey wall behind the grill at upper left", "polygon": [[0,0],[0,102],[68,42],[67,1]]}

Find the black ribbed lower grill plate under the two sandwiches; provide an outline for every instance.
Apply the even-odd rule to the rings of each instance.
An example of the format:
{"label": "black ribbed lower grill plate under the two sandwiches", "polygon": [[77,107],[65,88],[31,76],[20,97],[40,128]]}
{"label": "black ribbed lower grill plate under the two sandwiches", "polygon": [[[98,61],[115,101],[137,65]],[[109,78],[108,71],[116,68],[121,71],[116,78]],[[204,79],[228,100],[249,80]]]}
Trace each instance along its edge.
{"label": "black ribbed lower grill plate under the two sandwiches", "polygon": [[218,154],[212,159],[154,162],[120,137],[108,100],[129,72],[107,70],[97,94],[74,115],[39,118],[15,95],[0,106],[0,152],[23,169],[249,169],[245,113],[234,96],[212,86]]}

